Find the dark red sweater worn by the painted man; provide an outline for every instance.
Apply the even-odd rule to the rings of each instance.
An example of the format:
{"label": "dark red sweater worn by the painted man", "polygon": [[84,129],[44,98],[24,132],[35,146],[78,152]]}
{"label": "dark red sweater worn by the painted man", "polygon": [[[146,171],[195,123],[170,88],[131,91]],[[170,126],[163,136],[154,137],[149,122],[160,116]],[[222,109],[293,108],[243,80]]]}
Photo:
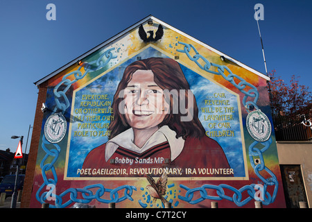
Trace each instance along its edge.
{"label": "dark red sweater worn by the painted man", "polygon": [[[182,153],[172,162],[168,142],[153,146],[141,154],[119,146],[107,162],[105,161],[105,145],[94,148],[87,155],[80,176],[138,177],[145,176],[146,173],[159,176],[161,172],[157,171],[159,168],[171,169],[167,173],[171,177],[233,176],[223,149],[218,142],[206,136],[201,139],[188,137],[184,142]],[[113,171],[113,169],[119,169],[119,171]]]}

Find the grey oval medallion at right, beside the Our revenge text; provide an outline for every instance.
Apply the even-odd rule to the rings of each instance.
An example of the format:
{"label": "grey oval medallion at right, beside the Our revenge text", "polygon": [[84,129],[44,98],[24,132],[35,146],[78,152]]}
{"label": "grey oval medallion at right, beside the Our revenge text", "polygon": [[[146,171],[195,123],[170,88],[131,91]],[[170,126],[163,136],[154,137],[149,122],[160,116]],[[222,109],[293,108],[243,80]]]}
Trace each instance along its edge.
{"label": "grey oval medallion at right, beside the Our revenge text", "polygon": [[259,142],[264,142],[270,138],[271,123],[261,110],[250,112],[246,119],[248,133]]}

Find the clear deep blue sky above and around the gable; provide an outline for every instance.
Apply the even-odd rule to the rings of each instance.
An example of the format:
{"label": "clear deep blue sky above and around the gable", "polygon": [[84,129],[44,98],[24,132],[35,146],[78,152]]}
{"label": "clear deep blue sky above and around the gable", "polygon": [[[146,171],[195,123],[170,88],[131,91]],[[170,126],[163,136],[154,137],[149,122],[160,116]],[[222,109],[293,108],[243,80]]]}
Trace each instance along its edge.
{"label": "clear deep blue sky above and around the gable", "polygon": [[[55,20],[46,19],[49,3]],[[19,141],[11,136],[23,135],[24,153],[31,126],[28,153],[37,80],[148,15],[266,74],[257,3],[268,71],[286,83],[300,76],[311,91],[311,0],[0,0],[0,149],[15,152]]]}

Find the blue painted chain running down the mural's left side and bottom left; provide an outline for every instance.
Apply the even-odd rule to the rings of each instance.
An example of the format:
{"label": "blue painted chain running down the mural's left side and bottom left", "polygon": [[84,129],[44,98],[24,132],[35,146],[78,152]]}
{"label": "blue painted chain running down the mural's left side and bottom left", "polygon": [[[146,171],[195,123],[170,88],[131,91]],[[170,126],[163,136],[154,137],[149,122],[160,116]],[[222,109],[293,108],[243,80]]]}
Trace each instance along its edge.
{"label": "blue painted chain running down the mural's left side and bottom left", "polygon": [[[55,95],[55,103],[56,106],[53,110],[53,112],[64,112],[69,108],[69,99],[66,96],[66,92],[71,87],[71,84],[76,83],[76,81],[84,78],[89,72],[96,71],[98,69],[101,69],[107,65],[108,62],[110,62],[111,59],[117,58],[117,56],[113,56],[111,51],[112,49],[107,49],[101,56],[98,58],[98,60],[89,62],[89,63],[83,63],[83,65],[80,65],[80,67],[76,71],[71,71],[69,74],[66,74],[63,76],[62,81],[58,83],[58,85],[55,86],[53,89],[53,93]],[[107,58],[105,62],[102,61],[103,56]],[[83,74],[80,69],[84,67],[85,73]],[[74,76],[74,80],[70,80],[69,76]],[[61,91],[58,91],[61,85],[65,85],[64,89]],[[62,98],[62,101],[60,99]],[[48,147],[53,148],[48,148]],[[89,185],[84,188],[69,188],[66,191],[62,192],[62,194],[57,195],[56,194],[56,185],[58,183],[58,176],[56,174],[56,170],[54,167],[55,162],[58,160],[58,156],[60,154],[60,146],[58,144],[51,144],[46,137],[42,136],[42,149],[46,152],[46,155],[42,159],[40,163],[40,168],[42,169],[42,178],[44,182],[40,186],[40,188],[37,190],[36,198],[40,203],[45,203],[46,200],[55,200],[55,205],[49,205],[51,208],[63,208],[69,206],[71,203],[89,203],[91,200],[98,200],[101,203],[119,203],[125,199],[133,200],[132,199],[132,192],[133,190],[137,190],[136,187],[130,186],[130,185],[123,185],[121,187],[117,187],[116,189],[105,189],[105,187],[102,184],[95,184],[95,185]],[[53,160],[51,160],[51,157]],[[47,160],[51,160],[49,163],[45,163]],[[53,178],[48,178],[47,174],[51,172]],[[50,173],[50,174],[51,174]],[[41,195],[40,193],[43,191],[43,189],[46,188],[49,189],[49,191],[43,192]],[[92,191],[92,189],[96,189],[95,194]],[[119,197],[119,191],[123,191],[123,196]],[[102,196],[105,193],[110,194],[110,199],[102,198]],[[81,194],[83,198],[78,198],[78,194]],[[67,202],[63,203],[64,196],[69,195],[69,200]]]}

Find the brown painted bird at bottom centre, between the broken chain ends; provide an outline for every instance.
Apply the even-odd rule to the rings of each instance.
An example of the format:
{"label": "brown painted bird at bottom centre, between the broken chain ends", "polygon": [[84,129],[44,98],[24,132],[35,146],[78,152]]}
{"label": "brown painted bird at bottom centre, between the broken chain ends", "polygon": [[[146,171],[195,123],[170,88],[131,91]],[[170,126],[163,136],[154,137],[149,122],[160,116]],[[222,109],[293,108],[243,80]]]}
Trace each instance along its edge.
{"label": "brown painted bird at bottom centre, between the broken chain ends", "polygon": [[167,186],[167,179],[168,176],[166,173],[162,173],[162,176],[158,178],[157,182],[150,176],[146,175],[146,178],[150,185],[146,186],[146,189],[150,192],[150,196],[155,199],[162,200],[162,203],[168,203],[168,201],[163,197],[166,194],[166,186]]}

